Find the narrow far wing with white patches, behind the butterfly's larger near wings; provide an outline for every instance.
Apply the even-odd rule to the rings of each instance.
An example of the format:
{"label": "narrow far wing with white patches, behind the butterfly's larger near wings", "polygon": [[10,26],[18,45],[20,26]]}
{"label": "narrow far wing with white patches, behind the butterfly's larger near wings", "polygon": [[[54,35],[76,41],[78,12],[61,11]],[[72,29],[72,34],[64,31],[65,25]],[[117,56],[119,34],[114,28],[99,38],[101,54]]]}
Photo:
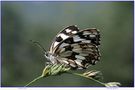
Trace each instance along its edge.
{"label": "narrow far wing with white patches, behind the butterfly's larger near wings", "polygon": [[54,49],[65,39],[76,34],[79,29],[76,25],[68,26],[64,30],[60,31],[53,40],[49,52],[54,53]]}

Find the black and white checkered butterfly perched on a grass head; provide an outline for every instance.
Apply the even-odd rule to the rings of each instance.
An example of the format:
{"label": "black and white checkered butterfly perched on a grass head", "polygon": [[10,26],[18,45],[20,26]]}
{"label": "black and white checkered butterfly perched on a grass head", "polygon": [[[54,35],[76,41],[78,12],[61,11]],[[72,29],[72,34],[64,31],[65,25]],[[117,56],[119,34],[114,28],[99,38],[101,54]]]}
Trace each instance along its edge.
{"label": "black and white checkered butterfly perched on a grass head", "polygon": [[56,35],[45,57],[51,64],[86,69],[100,60],[99,41],[96,28],[79,30],[76,25],[68,26]]}

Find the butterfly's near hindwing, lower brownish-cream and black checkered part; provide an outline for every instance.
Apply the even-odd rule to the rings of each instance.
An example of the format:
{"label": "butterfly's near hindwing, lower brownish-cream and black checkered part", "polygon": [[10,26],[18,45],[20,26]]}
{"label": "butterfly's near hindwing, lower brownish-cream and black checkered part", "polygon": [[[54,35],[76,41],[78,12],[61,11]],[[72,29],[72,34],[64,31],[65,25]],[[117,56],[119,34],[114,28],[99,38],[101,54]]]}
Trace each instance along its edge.
{"label": "butterfly's near hindwing, lower brownish-cream and black checkered part", "polygon": [[72,64],[79,68],[95,65],[100,58],[98,47],[90,43],[70,44],[59,49],[57,54],[60,58],[67,58],[67,61],[72,60]]}

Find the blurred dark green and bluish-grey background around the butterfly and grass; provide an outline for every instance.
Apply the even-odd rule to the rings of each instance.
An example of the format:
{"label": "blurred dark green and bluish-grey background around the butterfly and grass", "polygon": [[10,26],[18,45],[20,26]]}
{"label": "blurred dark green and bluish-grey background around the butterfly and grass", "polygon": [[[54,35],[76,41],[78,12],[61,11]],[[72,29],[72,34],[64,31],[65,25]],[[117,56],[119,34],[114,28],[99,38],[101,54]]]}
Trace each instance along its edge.
{"label": "blurred dark green and bluish-grey background around the butterfly and grass", "polygon": [[[89,67],[103,73],[103,82],[134,85],[133,2],[2,2],[2,86],[24,86],[39,76],[45,65],[42,51],[63,28],[98,28],[101,61]],[[76,72],[83,72],[78,70]],[[62,74],[31,86],[101,86],[91,80]]]}

